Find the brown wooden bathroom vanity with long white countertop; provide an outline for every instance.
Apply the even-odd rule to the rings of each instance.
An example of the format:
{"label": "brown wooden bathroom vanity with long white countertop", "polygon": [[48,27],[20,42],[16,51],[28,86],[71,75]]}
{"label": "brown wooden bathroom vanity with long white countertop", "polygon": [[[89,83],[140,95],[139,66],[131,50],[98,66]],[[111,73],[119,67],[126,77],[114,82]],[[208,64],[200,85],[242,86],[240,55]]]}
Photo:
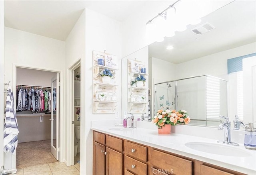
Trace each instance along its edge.
{"label": "brown wooden bathroom vanity with long white countertop", "polygon": [[238,147],[220,144],[220,147],[237,150],[238,155],[235,155],[235,152],[234,155],[218,155],[186,146],[186,143],[206,143],[210,148],[211,144],[216,144],[216,140],[213,139],[176,133],[158,135],[157,130],[145,128],[92,125],[91,129],[94,175],[256,173],[255,151],[247,150],[241,144]]}

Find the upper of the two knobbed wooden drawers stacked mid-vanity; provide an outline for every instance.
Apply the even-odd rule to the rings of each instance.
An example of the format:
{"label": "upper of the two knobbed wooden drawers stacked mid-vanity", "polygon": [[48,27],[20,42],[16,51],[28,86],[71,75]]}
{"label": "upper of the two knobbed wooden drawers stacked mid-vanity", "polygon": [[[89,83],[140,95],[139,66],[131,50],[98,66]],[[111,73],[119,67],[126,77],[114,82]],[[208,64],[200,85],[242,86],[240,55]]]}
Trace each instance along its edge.
{"label": "upper of the two knobbed wooden drawers stacked mid-vanity", "polygon": [[142,161],[148,161],[148,148],[128,141],[124,142],[124,152]]}

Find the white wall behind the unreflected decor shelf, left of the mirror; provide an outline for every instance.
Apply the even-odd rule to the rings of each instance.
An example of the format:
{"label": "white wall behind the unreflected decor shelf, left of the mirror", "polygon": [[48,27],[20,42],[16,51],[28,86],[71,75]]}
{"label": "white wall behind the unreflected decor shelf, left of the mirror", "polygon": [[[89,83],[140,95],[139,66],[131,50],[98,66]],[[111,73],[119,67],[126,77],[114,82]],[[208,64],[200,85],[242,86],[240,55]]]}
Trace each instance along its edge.
{"label": "white wall behind the unreflected decor shelf, left of the mirror", "polygon": [[[81,120],[81,127],[85,126],[83,130],[83,138],[86,140],[81,141],[83,149],[80,154],[86,155],[82,159],[81,157],[81,174],[92,174],[92,131],[90,130],[92,120],[108,120],[114,119],[114,114],[92,114],[92,101],[93,101],[93,62],[92,62],[92,51],[104,51],[106,53],[114,54],[118,57],[118,72],[116,76],[116,82],[118,83],[117,88],[117,106],[116,111],[121,114],[121,25],[120,22],[112,20],[102,14],[86,9],[86,26],[85,26],[85,51],[86,51],[86,64],[81,64],[82,69],[85,70],[85,74],[82,73],[82,81],[84,87],[81,89],[81,97],[84,99],[85,104],[85,120]],[[86,101],[85,101],[86,97]],[[82,101],[83,102],[83,101]]]}

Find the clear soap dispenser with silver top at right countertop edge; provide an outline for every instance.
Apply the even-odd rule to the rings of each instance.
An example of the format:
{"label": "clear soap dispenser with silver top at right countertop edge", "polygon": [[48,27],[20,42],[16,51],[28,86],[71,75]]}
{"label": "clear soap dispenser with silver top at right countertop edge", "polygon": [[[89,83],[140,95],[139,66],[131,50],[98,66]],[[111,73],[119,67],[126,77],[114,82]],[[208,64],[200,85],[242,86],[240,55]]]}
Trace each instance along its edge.
{"label": "clear soap dispenser with silver top at right countertop edge", "polygon": [[245,125],[244,147],[246,149],[256,150],[256,128],[253,123]]}

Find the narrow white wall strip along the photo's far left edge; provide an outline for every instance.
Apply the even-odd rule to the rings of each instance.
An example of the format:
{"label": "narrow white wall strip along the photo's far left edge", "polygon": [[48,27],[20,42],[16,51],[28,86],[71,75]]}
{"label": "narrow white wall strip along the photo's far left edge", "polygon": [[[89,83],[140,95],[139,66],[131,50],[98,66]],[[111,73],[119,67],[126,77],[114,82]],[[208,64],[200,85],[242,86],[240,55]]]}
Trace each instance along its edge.
{"label": "narrow white wall strip along the photo's far left edge", "polygon": [[[0,1],[0,100],[4,101],[4,1]],[[8,83],[8,82],[7,82]],[[2,104],[2,103],[1,103]],[[0,105],[0,114],[4,114],[4,105]],[[0,120],[3,121],[4,115]],[[0,147],[4,147],[4,125],[0,124]],[[4,165],[4,151],[0,151],[0,166]]]}

